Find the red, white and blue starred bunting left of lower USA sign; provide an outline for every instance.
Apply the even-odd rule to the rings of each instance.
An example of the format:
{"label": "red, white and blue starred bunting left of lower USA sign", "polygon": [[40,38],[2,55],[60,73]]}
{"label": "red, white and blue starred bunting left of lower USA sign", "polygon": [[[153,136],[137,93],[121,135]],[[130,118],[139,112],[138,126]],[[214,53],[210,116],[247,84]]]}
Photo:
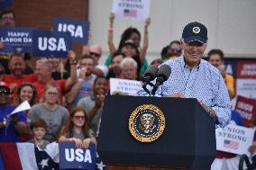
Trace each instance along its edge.
{"label": "red, white and blue starred bunting left of lower USA sign", "polygon": [[[32,143],[1,143],[0,154],[4,164],[1,170],[55,170],[59,165],[54,162],[59,157],[57,143],[51,143],[50,148],[41,150]],[[53,146],[53,145],[57,145]],[[54,150],[50,150],[54,148]]]}

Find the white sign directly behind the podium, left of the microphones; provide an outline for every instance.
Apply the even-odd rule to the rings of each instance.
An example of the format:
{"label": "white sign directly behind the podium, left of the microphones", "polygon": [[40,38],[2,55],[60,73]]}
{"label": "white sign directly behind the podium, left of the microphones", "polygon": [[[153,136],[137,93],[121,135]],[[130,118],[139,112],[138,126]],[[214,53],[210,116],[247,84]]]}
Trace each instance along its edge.
{"label": "white sign directly behind the podium, left of the microphones", "polygon": [[142,82],[120,78],[110,78],[110,94],[137,95],[142,89]]}

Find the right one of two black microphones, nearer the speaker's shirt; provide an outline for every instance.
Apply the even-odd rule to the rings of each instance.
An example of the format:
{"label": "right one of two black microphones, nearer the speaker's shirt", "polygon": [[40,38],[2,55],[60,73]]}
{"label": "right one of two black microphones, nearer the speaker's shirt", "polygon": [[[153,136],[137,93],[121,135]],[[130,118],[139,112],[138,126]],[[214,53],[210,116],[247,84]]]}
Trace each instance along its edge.
{"label": "right one of two black microphones, nearer the speaker's shirt", "polygon": [[156,84],[154,85],[151,94],[154,96],[156,94],[156,91],[158,89],[158,87],[160,85],[163,84],[163,82],[165,82],[170,75],[171,72],[171,68],[168,65],[161,65],[160,66],[160,70],[157,73],[157,80],[156,80]]}

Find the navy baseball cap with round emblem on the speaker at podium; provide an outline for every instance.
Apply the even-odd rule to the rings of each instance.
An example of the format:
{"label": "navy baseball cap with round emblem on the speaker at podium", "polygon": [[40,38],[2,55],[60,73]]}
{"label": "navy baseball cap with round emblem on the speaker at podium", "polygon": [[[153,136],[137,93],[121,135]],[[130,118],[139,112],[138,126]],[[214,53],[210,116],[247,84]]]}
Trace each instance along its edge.
{"label": "navy baseball cap with round emblem on the speaker at podium", "polygon": [[189,43],[194,40],[206,43],[208,40],[207,28],[200,22],[190,22],[182,32],[182,39],[184,39],[185,43]]}

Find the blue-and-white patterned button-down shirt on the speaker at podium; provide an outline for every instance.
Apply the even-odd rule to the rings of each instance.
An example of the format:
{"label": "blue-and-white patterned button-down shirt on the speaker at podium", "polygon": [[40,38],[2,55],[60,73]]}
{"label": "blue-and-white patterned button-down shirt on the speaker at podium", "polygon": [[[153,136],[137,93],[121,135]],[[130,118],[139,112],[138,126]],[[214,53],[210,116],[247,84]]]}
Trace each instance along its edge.
{"label": "blue-and-white patterned button-down shirt on the speaker at podium", "polygon": [[[170,59],[164,64],[171,67],[171,74],[156,95],[182,93],[186,98],[197,98],[215,111],[221,127],[228,124],[231,102],[224,79],[215,67],[201,59],[200,64],[190,71],[183,57]],[[143,90],[138,94],[147,95]]]}

